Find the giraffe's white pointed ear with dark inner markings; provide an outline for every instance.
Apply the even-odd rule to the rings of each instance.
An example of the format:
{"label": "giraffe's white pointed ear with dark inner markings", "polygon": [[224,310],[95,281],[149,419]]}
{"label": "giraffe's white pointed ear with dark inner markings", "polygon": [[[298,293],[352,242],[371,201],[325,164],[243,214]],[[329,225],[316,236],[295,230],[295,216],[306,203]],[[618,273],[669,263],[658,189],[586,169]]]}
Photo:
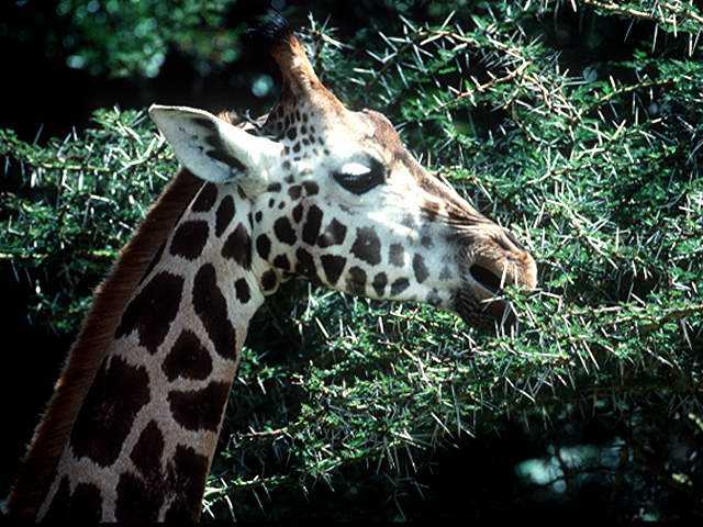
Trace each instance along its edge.
{"label": "giraffe's white pointed ear with dark inner markings", "polygon": [[265,187],[282,146],[203,110],[153,104],[149,116],[188,170],[214,183]]}

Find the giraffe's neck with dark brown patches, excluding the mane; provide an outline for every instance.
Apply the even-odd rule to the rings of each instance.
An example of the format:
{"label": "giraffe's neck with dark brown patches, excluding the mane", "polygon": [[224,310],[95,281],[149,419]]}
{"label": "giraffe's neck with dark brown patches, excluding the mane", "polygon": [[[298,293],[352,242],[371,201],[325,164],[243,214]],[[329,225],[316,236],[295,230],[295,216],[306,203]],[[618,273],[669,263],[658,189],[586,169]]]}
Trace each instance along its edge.
{"label": "giraffe's neck with dark brown patches, excluding the mane", "polygon": [[198,518],[250,318],[248,202],[205,184],[134,291],[37,517]]}

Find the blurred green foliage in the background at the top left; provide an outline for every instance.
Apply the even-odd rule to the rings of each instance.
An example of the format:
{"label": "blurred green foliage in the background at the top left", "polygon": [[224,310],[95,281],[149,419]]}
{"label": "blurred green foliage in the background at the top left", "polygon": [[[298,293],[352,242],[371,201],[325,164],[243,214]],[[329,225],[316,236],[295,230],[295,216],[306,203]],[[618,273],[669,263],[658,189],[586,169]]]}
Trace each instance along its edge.
{"label": "blurred green foliage in the background at the top left", "polygon": [[[166,55],[178,49],[199,70],[237,58],[239,29],[226,29],[235,0],[54,0],[31,29],[3,26],[0,36],[43,40],[46,52],[63,56],[70,68],[110,77],[156,77]],[[30,15],[31,1],[15,1]],[[27,5],[29,4],[29,5]]]}

